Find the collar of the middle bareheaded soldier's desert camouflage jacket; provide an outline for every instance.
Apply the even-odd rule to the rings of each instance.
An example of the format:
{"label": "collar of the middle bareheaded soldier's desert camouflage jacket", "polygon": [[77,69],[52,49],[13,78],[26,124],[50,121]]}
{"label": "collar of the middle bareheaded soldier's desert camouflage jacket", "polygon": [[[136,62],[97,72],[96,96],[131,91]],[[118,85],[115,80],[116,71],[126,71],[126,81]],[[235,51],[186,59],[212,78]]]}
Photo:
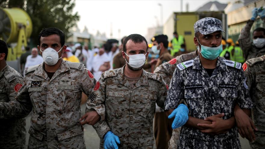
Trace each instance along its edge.
{"label": "collar of the middle bareheaded soldier's desert camouflage jacket", "polygon": [[[126,65],[124,65],[120,70],[118,70],[117,73],[117,77],[118,80],[121,84],[127,86],[128,88],[132,88],[129,81],[126,79],[126,77],[124,76],[124,68]],[[148,73],[143,70],[142,76],[139,79],[139,81],[136,83],[135,87],[139,87],[139,86],[147,86],[148,85]]]}

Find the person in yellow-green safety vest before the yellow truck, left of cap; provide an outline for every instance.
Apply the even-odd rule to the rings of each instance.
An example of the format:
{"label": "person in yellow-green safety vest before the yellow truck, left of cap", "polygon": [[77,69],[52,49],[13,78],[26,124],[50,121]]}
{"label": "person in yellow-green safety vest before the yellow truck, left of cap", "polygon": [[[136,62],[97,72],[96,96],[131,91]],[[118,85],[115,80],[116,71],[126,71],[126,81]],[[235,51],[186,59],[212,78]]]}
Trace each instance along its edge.
{"label": "person in yellow-green safety vest before the yellow truck, left of cap", "polygon": [[179,35],[177,32],[173,33],[172,49],[170,51],[171,56],[176,57],[175,55],[179,52],[182,44],[185,44],[185,39],[182,35]]}

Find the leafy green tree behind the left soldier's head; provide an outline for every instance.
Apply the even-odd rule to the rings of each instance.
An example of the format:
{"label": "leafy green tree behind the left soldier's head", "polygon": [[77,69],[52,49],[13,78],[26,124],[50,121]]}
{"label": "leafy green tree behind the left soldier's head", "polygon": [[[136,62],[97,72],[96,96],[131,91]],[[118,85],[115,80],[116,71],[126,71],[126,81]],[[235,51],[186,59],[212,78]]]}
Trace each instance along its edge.
{"label": "leafy green tree behind the left soldier's head", "polygon": [[73,14],[74,0],[0,0],[0,7],[19,7],[27,11],[33,23],[31,41],[38,43],[39,32],[43,28],[61,29],[66,39],[71,36],[70,29],[80,19],[78,13]]}

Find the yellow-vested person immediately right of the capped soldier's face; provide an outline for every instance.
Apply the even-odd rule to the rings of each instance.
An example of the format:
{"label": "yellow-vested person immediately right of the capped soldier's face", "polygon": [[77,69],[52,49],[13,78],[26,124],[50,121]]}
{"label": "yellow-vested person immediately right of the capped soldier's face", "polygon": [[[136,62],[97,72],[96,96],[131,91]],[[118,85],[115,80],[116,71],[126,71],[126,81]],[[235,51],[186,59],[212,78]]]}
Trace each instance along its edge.
{"label": "yellow-vested person immediately right of the capped soldier's face", "polygon": [[[222,43],[223,43],[223,39],[222,39]],[[221,52],[221,54],[219,55],[220,57],[224,57],[227,60],[230,61],[234,61],[234,42],[231,38],[226,40],[226,48],[223,49],[223,51]]]}

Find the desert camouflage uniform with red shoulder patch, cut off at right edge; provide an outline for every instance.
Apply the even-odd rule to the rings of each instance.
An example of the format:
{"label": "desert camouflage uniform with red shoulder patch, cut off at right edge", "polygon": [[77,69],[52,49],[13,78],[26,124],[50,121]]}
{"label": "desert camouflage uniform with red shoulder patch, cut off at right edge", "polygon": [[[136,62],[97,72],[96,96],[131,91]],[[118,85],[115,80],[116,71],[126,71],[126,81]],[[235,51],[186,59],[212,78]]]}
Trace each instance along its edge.
{"label": "desert camouflage uniform with red shoulder patch, cut off at right edge", "polygon": [[255,131],[256,140],[251,148],[265,148],[265,55],[252,58],[243,64],[250,98],[254,103],[252,118],[258,129]]}

